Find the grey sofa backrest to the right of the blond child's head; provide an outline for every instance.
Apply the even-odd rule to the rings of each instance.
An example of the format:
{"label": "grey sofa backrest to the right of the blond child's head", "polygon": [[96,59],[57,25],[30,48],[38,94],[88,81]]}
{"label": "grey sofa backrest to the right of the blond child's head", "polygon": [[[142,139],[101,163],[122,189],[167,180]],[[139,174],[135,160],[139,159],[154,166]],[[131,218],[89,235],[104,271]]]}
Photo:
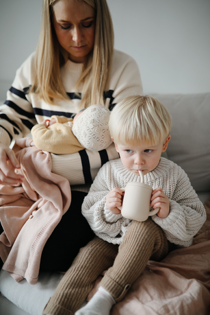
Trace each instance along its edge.
{"label": "grey sofa backrest to the right of the blond child's head", "polygon": [[153,96],[172,115],[168,159],[185,170],[196,191],[210,191],[210,93]]}

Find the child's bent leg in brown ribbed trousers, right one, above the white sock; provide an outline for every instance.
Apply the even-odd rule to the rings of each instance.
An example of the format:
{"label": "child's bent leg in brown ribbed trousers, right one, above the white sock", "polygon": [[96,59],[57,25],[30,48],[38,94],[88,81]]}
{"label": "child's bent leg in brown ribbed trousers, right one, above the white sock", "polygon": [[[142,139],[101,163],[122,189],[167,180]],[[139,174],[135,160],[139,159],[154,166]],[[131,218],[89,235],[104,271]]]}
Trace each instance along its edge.
{"label": "child's bent leg in brown ribbed trousers, right one, above the white sock", "polygon": [[124,235],[114,265],[106,272],[101,286],[118,302],[141,275],[148,260],[160,261],[167,253],[166,235],[153,220],[134,221]]}

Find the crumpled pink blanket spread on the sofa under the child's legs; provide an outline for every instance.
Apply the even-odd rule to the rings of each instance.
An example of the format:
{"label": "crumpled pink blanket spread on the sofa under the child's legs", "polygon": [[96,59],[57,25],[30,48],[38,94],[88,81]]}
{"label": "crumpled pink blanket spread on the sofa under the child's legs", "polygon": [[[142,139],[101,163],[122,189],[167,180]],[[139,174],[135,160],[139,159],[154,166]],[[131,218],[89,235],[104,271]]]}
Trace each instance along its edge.
{"label": "crumpled pink blanket spread on the sofa under the child's legs", "polygon": [[[210,314],[210,200],[205,208],[207,221],[194,237],[193,245],[172,251],[161,262],[148,261],[110,315]],[[99,285],[100,282],[96,288]]]}

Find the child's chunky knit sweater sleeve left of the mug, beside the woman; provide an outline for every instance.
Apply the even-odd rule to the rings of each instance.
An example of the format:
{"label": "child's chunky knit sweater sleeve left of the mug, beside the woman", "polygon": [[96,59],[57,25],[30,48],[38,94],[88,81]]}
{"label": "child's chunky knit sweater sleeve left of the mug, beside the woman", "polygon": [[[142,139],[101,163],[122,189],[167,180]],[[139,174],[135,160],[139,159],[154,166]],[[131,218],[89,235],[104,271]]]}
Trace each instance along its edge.
{"label": "child's chunky knit sweater sleeve left of the mug, beside the woman", "polygon": [[122,229],[122,221],[124,220],[121,214],[111,213],[106,205],[106,197],[111,190],[109,186],[110,180],[107,181],[109,173],[109,163],[106,163],[99,170],[82,205],[84,217],[88,220],[91,229],[99,237],[101,237],[101,233],[116,237]]}

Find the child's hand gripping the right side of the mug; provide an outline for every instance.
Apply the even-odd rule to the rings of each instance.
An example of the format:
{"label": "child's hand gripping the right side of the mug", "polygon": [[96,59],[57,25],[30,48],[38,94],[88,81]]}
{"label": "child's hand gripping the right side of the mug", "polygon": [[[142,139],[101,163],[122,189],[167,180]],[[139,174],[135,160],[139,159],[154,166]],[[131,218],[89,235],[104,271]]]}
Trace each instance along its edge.
{"label": "child's hand gripping the right side of the mug", "polygon": [[159,218],[164,219],[168,217],[170,202],[168,197],[163,193],[161,187],[153,190],[150,207],[153,207],[153,209],[159,208],[159,211],[157,212]]}

